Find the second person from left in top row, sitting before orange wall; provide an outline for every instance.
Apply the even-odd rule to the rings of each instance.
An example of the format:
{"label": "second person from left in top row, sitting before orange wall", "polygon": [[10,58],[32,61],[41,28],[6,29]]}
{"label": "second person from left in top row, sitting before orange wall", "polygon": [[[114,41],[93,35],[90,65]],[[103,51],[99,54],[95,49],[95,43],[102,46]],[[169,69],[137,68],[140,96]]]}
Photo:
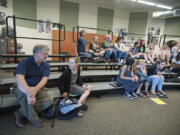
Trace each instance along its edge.
{"label": "second person from left in top row, sitting before orange wall", "polygon": [[95,57],[103,57],[104,56],[105,51],[101,50],[101,47],[98,44],[97,36],[94,36],[93,41],[91,42],[91,44],[89,46],[89,53]]}

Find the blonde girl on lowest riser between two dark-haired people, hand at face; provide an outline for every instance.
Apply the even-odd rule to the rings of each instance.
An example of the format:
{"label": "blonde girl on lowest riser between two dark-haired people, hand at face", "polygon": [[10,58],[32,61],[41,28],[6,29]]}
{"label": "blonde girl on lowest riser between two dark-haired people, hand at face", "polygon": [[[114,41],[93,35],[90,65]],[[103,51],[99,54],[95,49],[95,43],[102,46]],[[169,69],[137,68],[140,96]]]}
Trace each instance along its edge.
{"label": "blonde girl on lowest riser between two dark-haired people, hand at face", "polygon": [[[149,96],[149,93],[148,93],[148,87],[149,87],[149,78],[147,76],[147,72],[146,72],[146,67],[145,67],[145,63],[142,61],[142,60],[137,60],[135,62],[135,66],[134,66],[134,70],[135,70],[135,73],[136,75],[139,77],[139,87],[136,91],[136,94],[140,97],[146,97],[146,96]],[[145,91],[144,91],[144,94],[141,93],[141,88],[143,86],[143,84],[145,84]]]}

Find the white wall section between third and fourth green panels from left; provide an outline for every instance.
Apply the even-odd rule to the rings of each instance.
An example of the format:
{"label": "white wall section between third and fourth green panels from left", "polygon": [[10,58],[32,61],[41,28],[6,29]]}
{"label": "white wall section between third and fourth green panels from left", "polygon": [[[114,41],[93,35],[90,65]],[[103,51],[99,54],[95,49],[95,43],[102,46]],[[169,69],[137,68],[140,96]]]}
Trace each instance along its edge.
{"label": "white wall section between third and fourth green panels from left", "polygon": [[113,20],[114,35],[118,35],[117,30],[121,28],[126,28],[126,31],[128,31],[129,15],[130,15],[129,11],[120,10],[120,9],[114,10],[114,20]]}

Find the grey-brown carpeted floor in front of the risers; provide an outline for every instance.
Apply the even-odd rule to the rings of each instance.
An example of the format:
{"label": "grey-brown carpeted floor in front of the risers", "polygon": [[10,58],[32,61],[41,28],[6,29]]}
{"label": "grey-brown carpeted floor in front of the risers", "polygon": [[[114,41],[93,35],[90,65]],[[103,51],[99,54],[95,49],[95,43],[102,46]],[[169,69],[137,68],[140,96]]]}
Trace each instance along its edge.
{"label": "grey-brown carpeted floor in front of the risers", "polygon": [[117,93],[90,97],[83,118],[56,120],[54,128],[46,119],[43,128],[27,124],[19,129],[13,112],[3,113],[0,135],[180,135],[180,91],[167,93],[169,98],[162,99],[166,105],[149,98],[127,100]]}

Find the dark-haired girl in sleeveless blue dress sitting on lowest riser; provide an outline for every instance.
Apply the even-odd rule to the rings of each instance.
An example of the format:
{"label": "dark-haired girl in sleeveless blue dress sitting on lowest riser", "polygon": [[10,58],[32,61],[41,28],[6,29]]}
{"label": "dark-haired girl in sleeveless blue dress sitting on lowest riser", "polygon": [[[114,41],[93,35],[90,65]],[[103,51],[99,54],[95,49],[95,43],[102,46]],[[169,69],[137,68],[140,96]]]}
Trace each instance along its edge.
{"label": "dark-haired girl in sleeveless blue dress sitting on lowest riser", "polygon": [[127,99],[137,98],[134,91],[138,87],[138,77],[133,72],[134,61],[134,58],[127,58],[126,65],[123,65],[117,76],[117,86],[122,86],[125,89],[123,96]]}

